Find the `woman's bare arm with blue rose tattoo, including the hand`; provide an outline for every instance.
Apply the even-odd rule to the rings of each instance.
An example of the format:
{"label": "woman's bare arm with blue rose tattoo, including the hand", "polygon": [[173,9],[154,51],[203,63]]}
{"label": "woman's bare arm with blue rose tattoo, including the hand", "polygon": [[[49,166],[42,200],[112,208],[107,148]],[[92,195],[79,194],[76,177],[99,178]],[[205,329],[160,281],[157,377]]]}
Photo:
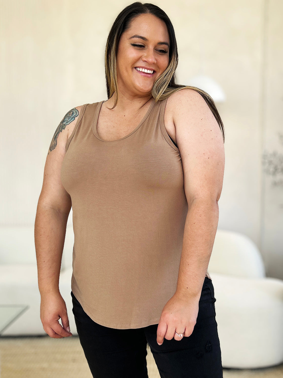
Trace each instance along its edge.
{"label": "woman's bare arm with blue rose tattoo, including the hand", "polygon": [[[66,225],[72,207],[71,197],[61,182],[65,146],[77,123],[82,105],[70,110],[55,130],[46,157],[42,190],[34,224],[38,288],[41,296],[40,319],[53,338],[72,336],[66,304],[59,292],[59,275]],[[62,320],[62,325],[59,319]]]}

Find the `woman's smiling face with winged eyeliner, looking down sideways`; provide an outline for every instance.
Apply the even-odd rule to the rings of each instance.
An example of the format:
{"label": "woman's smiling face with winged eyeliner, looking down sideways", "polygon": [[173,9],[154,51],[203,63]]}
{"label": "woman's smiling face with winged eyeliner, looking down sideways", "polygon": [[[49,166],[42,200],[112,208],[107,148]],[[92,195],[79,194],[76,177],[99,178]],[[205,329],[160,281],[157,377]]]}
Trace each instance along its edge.
{"label": "woman's smiling face with winged eyeliner, looking down sideways", "polygon": [[[119,92],[134,97],[151,95],[155,80],[168,64],[169,34],[165,22],[152,14],[138,15],[132,20],[131,27],[122,34],[118,45]],[[154,72],[139,72],[135,67],[153,69]]]}

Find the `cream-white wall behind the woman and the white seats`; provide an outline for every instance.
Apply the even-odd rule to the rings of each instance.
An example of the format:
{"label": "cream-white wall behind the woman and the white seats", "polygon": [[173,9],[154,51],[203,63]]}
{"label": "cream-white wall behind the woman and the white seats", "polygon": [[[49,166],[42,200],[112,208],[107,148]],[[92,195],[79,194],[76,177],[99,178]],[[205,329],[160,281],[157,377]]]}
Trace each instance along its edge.
{"label": "cream-white wall behind the woman and the white seats", "polygon": [[[71,108],[107,99],[106,39],[132,2],[1,1],[1,225],[34,224],[55,129]],[[154,4],[175,29],[177,83],[198,73],[203,53],[205,74],[227,96],[217,104],[226,136],[218,228],[251,237],[267,274],[283,279],[283,172],[269,175],[262,163],[275,151],[269,165],[282,171],[283,2]]]}

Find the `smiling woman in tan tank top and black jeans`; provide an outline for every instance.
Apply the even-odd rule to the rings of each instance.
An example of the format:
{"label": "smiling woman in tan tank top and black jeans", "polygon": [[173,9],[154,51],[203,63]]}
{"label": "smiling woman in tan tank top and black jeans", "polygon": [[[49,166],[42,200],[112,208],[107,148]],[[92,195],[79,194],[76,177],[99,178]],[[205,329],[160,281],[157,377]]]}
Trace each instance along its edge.
{"label": "smiling woman in tan tank top and black jeans", "polygon": [[[94,377],[222,377],[207,271],[224,129],[211,97],[176,85],[168,16],[133,3],[108,36],[108,100],[70,110],[46,158],[35,220],[40,318],[71,336],[58,289],[73,208],[73,313]],[[59,319],[62,319],[62,325]]]}

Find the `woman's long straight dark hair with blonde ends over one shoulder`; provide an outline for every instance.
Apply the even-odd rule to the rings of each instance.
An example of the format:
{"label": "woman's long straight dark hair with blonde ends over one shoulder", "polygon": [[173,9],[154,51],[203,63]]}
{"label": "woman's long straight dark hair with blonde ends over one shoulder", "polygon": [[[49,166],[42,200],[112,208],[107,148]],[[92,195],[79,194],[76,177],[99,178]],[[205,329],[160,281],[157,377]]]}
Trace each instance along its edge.
{"label": "woman's long straight dark hair with blonde ends over one shoulder", "polygon": [[168,29],[170,40],[169,64],[166,70],[155,81],[151,90],[152,98],[155,99],[155,102],[164,100],[171,96],[174,92],[177,92],[183,88],[193,89],[197,91],[198,93],[200,93],[203,99],[205,99],[216,121],[218,122],[224,143],[225,135],[223,122],[211,96],[209,96],[208,93],[200,88],[191,87],[189,85],[175,84],[175,71],[178,65],[178,50],[174,28],[168,15],[154,4],[142,4],[141,2],[135,2],[131,5],[126,6],[126,8],[124,8],[122,12],[118,14],[109,32],[105,48],[105,76],[108,99],[111,98],[114,93],[116,93],[113,108],[117,105],[118,100],[116,57],[120,37],[124,33],[124,31],[128,30],[131,27],[132,20],[140,14],[152,14],[155,17],[158,17],[160,20],[164,21]]}

